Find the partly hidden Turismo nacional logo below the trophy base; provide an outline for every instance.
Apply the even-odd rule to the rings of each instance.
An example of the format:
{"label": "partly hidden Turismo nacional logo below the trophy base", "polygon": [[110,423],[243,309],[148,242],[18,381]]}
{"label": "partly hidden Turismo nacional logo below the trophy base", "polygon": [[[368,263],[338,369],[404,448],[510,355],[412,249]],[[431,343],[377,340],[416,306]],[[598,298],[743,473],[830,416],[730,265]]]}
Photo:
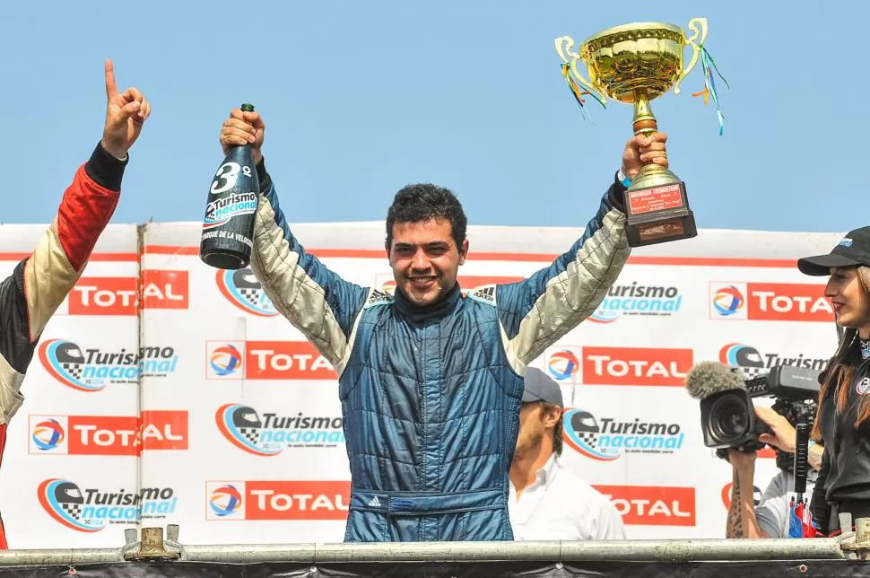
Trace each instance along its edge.
{"label": "partly hidden Turismo nacional logo below the trophy base", "polygon": [[680,311],[683,295],[674,286],[613,285],[589,320],[613,323],[622,315],[664,317]]}

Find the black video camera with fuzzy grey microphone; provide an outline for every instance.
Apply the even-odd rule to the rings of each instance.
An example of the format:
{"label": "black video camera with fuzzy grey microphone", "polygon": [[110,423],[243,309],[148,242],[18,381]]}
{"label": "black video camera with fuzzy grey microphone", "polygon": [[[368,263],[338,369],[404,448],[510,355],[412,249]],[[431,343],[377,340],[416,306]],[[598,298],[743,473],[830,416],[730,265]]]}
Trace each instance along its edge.
{"label": "black video camera with fuzzy grey microphone", "polygon": [[[739,368],[734,368],[740,371]],[[770,427],[755,416],[753,398],[774,398],[772,409],[791,425],[813,425],[819,397],[817,370],[779,365],[769,373],[744,379],[721,363],[699,363],[686,376],[686,389],[700,399],[700,425],[704,445],[726,454],[729,449],[759,451],[766,444],[761,434],[772,434]],[[790,454],[777,465],[787,469]],[[724,455],[720,455],[724,457]]]}

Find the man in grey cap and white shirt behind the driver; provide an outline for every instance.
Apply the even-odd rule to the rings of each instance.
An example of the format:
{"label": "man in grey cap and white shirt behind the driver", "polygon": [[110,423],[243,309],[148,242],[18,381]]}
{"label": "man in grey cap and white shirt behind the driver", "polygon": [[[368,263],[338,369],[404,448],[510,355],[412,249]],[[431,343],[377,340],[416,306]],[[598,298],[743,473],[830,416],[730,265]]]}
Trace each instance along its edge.
{"label": "man in grey cap and white shirt behind the driver", "polygon": [[517,540],[625,539],[622,516],[605,495],[562,466],[559,384],[526,371],[508,512]]}

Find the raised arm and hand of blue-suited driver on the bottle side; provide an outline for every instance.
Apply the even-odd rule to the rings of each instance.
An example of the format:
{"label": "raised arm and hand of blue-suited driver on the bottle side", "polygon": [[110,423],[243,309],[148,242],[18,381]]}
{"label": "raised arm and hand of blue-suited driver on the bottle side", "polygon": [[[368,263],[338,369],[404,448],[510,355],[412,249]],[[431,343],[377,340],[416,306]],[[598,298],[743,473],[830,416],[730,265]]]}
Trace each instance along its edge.
{"label": "raised arm and hand of blue-suited driver on the bottle side", "polygon": [[254,224],[251,268],[275,309],[291,321],[335,366],[339,375],[350,355],[354,320],[373,292],[330,271],[293,236],[278,205],[274,183],[265,170],[261,147],[265,124],[257,112],[234,109],[223,123],[224,152],[252,145],[260,198]]}

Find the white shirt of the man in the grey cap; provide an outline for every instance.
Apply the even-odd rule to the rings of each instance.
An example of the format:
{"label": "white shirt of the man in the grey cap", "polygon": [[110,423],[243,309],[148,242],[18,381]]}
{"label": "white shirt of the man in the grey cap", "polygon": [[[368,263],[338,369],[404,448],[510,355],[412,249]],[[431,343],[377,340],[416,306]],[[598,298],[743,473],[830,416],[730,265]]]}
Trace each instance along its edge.
{"label": "white shirt of the man in the grey cap", "polygon": [[517,499],[510,484],[508,513],[515,540],[625,539],[622,516],[605,495],[561,465],[553,453]]}

